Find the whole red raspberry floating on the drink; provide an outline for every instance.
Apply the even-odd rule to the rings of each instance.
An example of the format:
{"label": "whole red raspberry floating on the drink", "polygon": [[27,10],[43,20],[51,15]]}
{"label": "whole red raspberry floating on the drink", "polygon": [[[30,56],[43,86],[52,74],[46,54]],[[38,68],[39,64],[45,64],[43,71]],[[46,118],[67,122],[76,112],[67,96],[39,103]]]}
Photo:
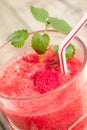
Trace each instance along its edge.
{"label": "whole red raspberry floating on the drink", "polygon": [[34,76],[35,90],[41,94],[58,87],[58,73],[52,70],[39,70]]}

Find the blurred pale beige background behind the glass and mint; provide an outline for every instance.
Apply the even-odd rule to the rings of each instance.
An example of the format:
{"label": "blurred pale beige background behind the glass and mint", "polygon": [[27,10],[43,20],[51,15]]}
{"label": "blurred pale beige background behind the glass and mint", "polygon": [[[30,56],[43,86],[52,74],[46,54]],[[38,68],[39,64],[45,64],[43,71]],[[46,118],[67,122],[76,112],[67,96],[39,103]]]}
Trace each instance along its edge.
{"label": "blurred pale beige background behind the glass and mint", "polygon": [[[87,0],[0,0],[0,45],[15,30],[44,29],[44,25],[32,17],[31,5],[47,9],[51,16],[65,19],[72,27],[87,13]],[[87,44],[87,25],[78,36]],[[8,130],[2,116],[0,121],[0,130]]]}

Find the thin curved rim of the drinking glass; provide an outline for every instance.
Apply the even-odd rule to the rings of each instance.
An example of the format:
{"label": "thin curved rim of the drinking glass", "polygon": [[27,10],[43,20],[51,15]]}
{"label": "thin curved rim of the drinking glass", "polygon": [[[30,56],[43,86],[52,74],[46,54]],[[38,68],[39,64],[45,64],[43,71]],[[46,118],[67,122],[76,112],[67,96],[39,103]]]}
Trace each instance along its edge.
{"label": "thin curved rim of the drinking glass", "polygon": [[[44,32],[44,30],[38,30],[38,31],[30,32],[30,35],[33,35],[33,34],[36,33],[36,32]],[[47,32],[48,32],[48,33],[57,33],[58,31],[56,31],[56,30],[48,30]],[[58,33],[59,33],[59,32],[58,32]],[[61,35],[67,35],[67,34],[63,34],[63,33],[59,33],[59,34],[61,34]],[[79,37],[75,36],[74,39],[76,39],[78,42],[80,42],[80,44],[81,44],[82,47],[83,47],[83,50],[84,50],[84,60],[83,60],[83,64],[82,64],[80,70],[79,70],[70,80],[66,81],[63,85],[61,85],[61,87],[56,88],[56,89],[53,89],[53,90],[51,90],[51,91],[49,91],[49,92],[46,92],[46,93],[44,93],[44,94],[41,94],[41,95],[36,95],[36,96],[32,96],[32,97],[31,97],[31,96],[14,97],[14,96],[7,96],[7,95],[4,95],[4,94],[1,94],[1,93],[0,93],[0,97],[5,98],[5,99],[8,99],[8,100],[32,100],[32,99],[34,100],[34,99],[42,98],[42,97],[44,97],[44,96],[50,95],[51,93],[55,93],[56,91],[60,91],[60,90],[62,90],[62,89],[64,89],[64,88],[66,88],[67,85],[69,85],[71,82],[73,82],[74,79],[75,79],[76,77],[78,77],[78,75],[82,72],[82,70],[84,69],[84,67],[85,67],[85,65],[86,65],[86,60],[87,60],[87,57],[86,57],[86,56],[87,56],[87,48],[86,48],[86,45],[84,44],[84,42],[83,42]],[[2,48],[3,48],[4,46],[6,46],[8,43],[9,43],[9,42],[4,43],[2,46],[0,46],[0,49],[2,49]]]}

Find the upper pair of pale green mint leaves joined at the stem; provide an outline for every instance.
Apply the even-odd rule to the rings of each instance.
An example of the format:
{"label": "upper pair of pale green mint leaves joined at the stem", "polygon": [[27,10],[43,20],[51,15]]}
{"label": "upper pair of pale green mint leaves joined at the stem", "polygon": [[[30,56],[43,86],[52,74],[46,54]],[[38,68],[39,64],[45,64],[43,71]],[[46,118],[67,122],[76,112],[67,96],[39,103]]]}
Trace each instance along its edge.
{"label": "upper pair of pale green mint leaves joined at the stem", "polygon": [[72,27],[66,21],[50,17],[48,11],[43,8],[36,8],[34,6],[31,6],[30,10],[37,21],[46,24],[46,29],[49,29],[51,27],[60,33],[69,33],[72,29]]}

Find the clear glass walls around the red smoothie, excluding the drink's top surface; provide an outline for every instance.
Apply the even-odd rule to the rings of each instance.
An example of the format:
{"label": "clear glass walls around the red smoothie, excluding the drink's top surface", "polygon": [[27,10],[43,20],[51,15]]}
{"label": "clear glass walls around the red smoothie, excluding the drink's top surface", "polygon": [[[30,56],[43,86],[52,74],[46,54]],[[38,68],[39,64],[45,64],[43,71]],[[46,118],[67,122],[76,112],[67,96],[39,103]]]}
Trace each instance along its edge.
{"label": "clear glass walls around the red smoothie, excluding the drink's top surface", "polygon": [[[48,34],[51,37],[51,44],[61,43],[66,36],[52,30],[48,31]],[[25,50],[31,52],[28,46],[31,36],[21,49],[9,43],[0,48],[0,73],[9,59]],[[81,117],[83,113],[81,91],[87,80],[86,47],[77,37],[72,44],[76,48],[76,56],[82,61],[82,66],[63,86],[35,97],[10,97],[0,93],[0,110],[11,130],[67,130]]]}

